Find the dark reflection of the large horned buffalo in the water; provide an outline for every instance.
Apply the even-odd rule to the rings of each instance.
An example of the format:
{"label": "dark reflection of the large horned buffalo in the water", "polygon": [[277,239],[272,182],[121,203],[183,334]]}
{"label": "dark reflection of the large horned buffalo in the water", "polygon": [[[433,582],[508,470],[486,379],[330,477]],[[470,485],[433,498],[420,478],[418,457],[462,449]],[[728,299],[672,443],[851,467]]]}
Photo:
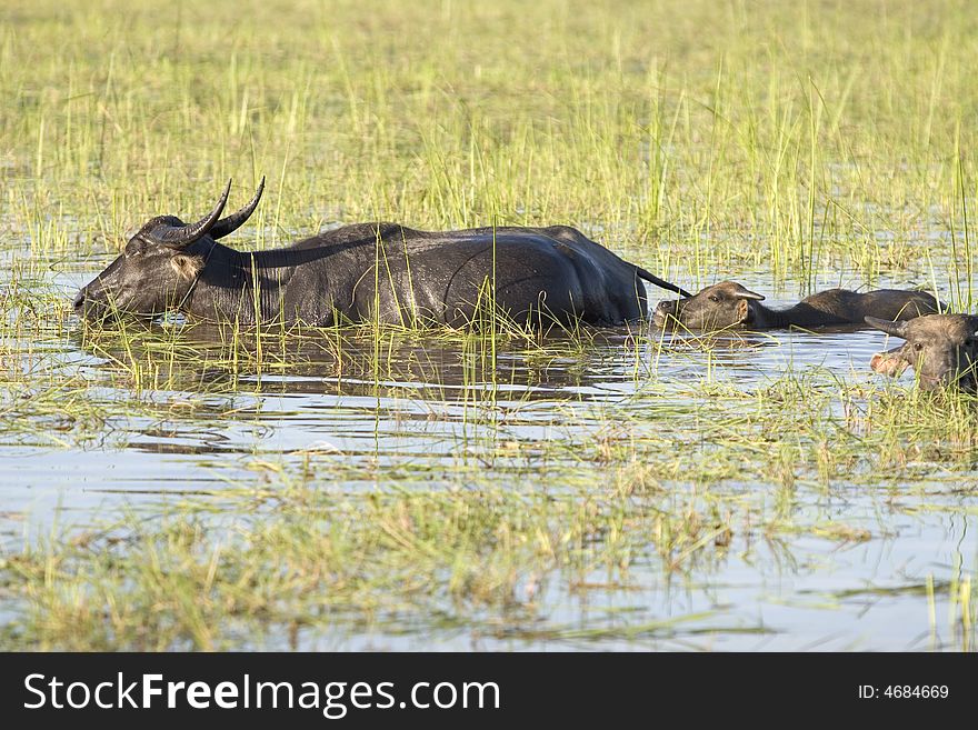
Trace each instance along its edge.
{"label": "dark reflection of the large horned buffalo in the water", "polygon": [[[141,363],[156,382],[174,390],[222,391],[249,383],[281,396],[330,394],[379,397],[411,391],[417,398],[461,400],[491,393],[519,398],[579,399],[600,392],[602,384],[633,380],[641,347],[628,330],[596,331],[585,341],[548,336],[495,347],[480,338],[386,334],[381,340],[350,333],[265,333],[233,338],[209,326],[187,327],[178,336],[183,352],[161,357],[173,333],[153,326],[132,339],[76,340],[111,377]],[[626,359],[622,359],[626,354]],[[622,364],[627,367],[622,368]]]}

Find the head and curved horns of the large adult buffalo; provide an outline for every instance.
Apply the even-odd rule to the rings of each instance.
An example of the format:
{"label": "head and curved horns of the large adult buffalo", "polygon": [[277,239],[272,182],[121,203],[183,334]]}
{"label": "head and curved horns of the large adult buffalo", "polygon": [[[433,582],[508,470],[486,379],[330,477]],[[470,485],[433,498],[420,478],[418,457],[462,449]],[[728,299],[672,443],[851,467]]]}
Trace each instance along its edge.
{"label": "head and curved horns of the large adult buffalo", "polygon": [[74,310],[89,320],[111,314],[154,317],[178,308],[188,296],[219,238],[239,228],[261,199],[265,178],[241,210],[221,218],[231,182],[217,206],[196,223],[174,216],[148,221],[126,244],[126,250],[74,298]]}

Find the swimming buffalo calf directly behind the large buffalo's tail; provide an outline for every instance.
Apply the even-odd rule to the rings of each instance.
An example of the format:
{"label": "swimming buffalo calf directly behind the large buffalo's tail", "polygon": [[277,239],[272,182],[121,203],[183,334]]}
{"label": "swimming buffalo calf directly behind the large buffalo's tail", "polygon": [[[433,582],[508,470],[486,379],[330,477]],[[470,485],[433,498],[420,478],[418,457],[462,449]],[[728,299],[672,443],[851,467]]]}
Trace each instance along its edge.
{"label": "swimming buffalo calf directly behind the large buffalo's tail", "polygon": [[659,327],[679,324],[689,329],[718,330],[745,326],[751,329],[861,324],[867,316],[905,320],[938,311],[938,302],[922,291],[878,289],[858,293],[828,289],[788,309],[760,303],[762,294],[736,281],[721,281],[688,299],[659,302],[652,321]]}

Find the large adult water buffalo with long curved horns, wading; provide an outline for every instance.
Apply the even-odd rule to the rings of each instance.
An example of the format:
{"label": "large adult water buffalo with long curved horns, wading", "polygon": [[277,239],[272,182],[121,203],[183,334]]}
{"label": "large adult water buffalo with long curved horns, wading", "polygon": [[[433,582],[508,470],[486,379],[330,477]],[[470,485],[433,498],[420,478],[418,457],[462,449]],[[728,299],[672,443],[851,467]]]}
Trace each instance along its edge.
{"label": "large adult water buffalo with long curved horns, wading", "polygon": [[646,316],[642,280],[689,296],[566,226],[430,232],[359,223],[288,248],[236,251],[218,239],[255,212],[265,179],[221,218],[230,187],[196,223],[148,221],[78,292],[76,310],[96,321],[179,310],[243,324],[461,326],[491,311],[495,296],[496,311],[518,322],[610,326]]}

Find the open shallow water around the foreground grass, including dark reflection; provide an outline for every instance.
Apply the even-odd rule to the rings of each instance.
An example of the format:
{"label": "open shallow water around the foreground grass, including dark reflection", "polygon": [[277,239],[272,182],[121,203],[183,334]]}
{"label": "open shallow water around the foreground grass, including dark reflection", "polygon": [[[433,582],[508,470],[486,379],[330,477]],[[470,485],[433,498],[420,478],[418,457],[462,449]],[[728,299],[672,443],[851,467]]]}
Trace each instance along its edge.
{"label": "open shallow water around the foreground grass, including dark reflection", "polygon": [[[50,274],[39,291],[70,291],[94,270]],[[758,276],[752,281],[762,281]],[[681,282],[686,283],[686,282]],[[884,282],[882,286],[885,286]],[[754,284],[756,288],[761,288]],[[650,292],[652,299],[656,292]],[[781,301],[787,297],[781,298]],[[774,298],[775,304],[779,303]],[[636,428],[658,438],[696,438],[701,403],[690,388],[716,384],[756,392],[785,373],[818,373],[820,382],[862,383],[868,392],[885,383],[868,372],[882,333],[855,328],[817,332],[729,333],[705,348],[693,336],[630,332],[593,333],[585,348],[553,338],[540,348],[501,350],[495,367],[485,356],[436,338],[413,338],[385,350],[373,343],[338,353],[316,337],[289,342],[271,360],[289,367],[239,372],[230,381],[214,367],[222,349],[207,328],[157,326],[198,356],[163,373],[166,388],[146,388],[149,408],[126,409],[91,429],[94,438],[70,438],[72,424],[32,421],[23,431],[4,431],[0,443],[0,538],[8,550],[59,529],[83,529],[129,511],[146,519],[187,500],[211,500],[223,489],[253,487],[273,470],[298,470],[311,458],[321,468],[342,464],[348,492],[383,489],[371,474],[380,467],[423,470],[425,489],[446,488],[460,468],[476,464],[499,487],[533,489],[543,471],[527,479],[526,461],[493,459],[479,467],[481,446],[500,441],[569,451],[607,429],[609,418],[641,412]],[[81,379],[81,398],[124,403],[133,390],[119,379],[112,359],[127,353],[93,352],[78,327],[68,334],[20,340],[8,348],[24,367],[48,379]],[[169,334],[167,334],[169,332]],[[176,333],[173,333],[176,332]],[[636,339],[635,334],[639,334]],[[647,339],[648,338],[648,339]],[[136,347],[152,346],[136,339]],[[136,358],[140,354],[137,352]],[[297,364],[299,363],[299,364]],[[223,379],[223,380],[222,380]],[[14,389],[16,390],[16,389]],[[17,392],[7,396],[16,401]],[[153,410],[153,406],[158,408]],[[10,403],[4,403],[10,410]],[[192,412],[183,414],[181,409]],[[617,414],[617,416],[616,416]],[[691,420],[690,420],[691,419]],[[47,426],[46,426],[47,423]],[[50,428],[49,428],[50,427]],[[59,429],[68,436],[58,440]],[[60,442],[59,442],[60,441]],[[706,451],[705,451],[706,453]],[[522,457],[521,457],[522,458]],[[553,457],[555,463],[561,458]],[[357,464],[369,464],[358,476]],[[463,470],[462,470],[463,471]],[[545,467],[546,471],[546,467]],[[558,470],[555,472],[560,474]],[[560,477],[548,488],[560,490]],[[804,480],[801,480],[804,482]],[[275,484],[275,481],[270,481]],[[595,484],[599,489],[600,484]],[[411,489],[411,479],[401,488]],[[697,486],[678,481],[677,493]],[[777,499],[776,486],[725,478],[711,487],[725,494]],[[573,486],[568,489],[580,490]],[[944,617],[940,590],[976,564],[976,519],[970,492],[940,480],[915,482],[912,494],[892,483],[867,486],[864,477],[834,479],[831,486],[795,489],[791,510],[799,522],[836,521],[865,530],[869,539],[839,541],[799,531],[775,541],[740,537],[730,550],[670,576],[638,559],[627,588],[607,584],[596,571],[583,588],[559,571],[536,596],[546,630],[535,632],[470,626],[445,630],[425,617],[392,627],[322,634],[299,632],[291,646],[320,649],[940,649],[957,646]],[[895,509],[894,502],[927,493],[927,509]],[[577,492],[575,492],[577,493]],[[600,573],[600,574],[599,574]],[[935,627],[928,628],[924,587],[935,581]]]}

